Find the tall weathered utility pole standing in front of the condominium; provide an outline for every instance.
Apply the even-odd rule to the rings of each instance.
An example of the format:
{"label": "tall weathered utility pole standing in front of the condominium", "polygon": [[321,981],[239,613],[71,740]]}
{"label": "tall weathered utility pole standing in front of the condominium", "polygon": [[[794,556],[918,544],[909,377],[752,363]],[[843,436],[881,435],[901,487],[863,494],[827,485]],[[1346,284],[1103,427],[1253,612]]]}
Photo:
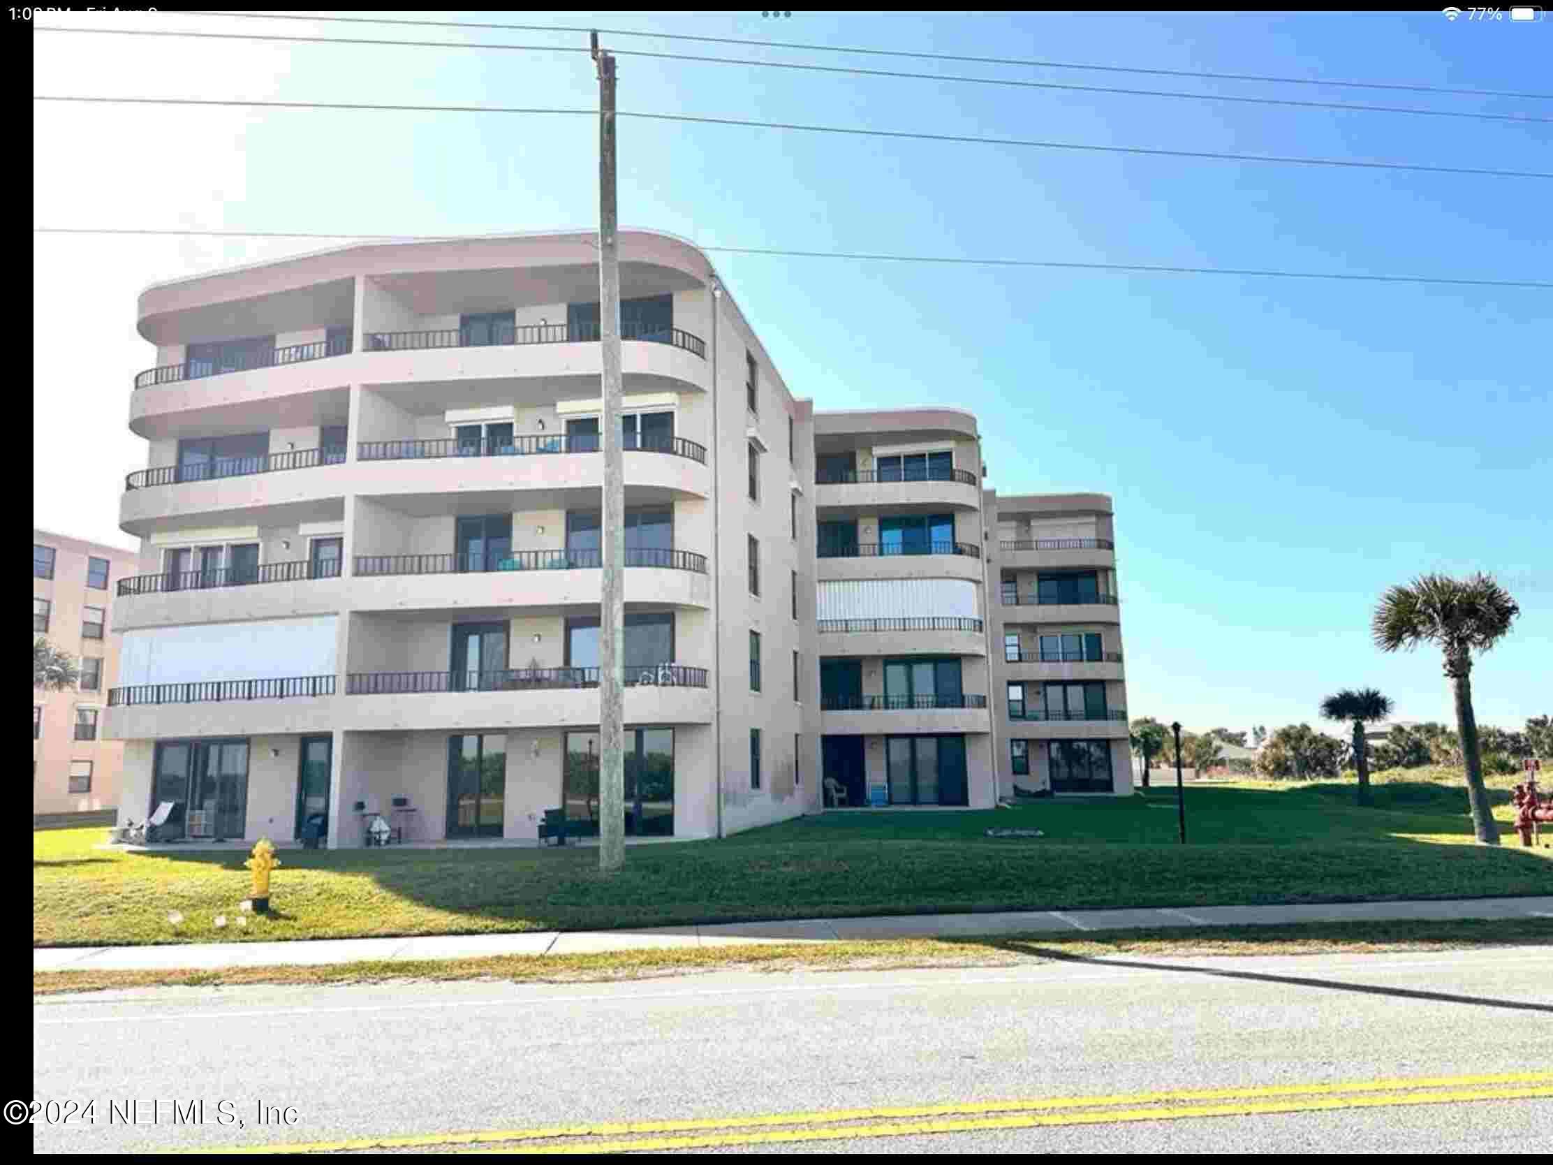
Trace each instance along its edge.
{"label": "tall weathered utility pole standing in front of the condominium", "polygon": [[615,207],[615,57],[598,64],[598,339],[604,360],[603,541],[604,572],[598,612],[598,868],[613,873],[626,864],[626,472],[620,421],[620,239]]}

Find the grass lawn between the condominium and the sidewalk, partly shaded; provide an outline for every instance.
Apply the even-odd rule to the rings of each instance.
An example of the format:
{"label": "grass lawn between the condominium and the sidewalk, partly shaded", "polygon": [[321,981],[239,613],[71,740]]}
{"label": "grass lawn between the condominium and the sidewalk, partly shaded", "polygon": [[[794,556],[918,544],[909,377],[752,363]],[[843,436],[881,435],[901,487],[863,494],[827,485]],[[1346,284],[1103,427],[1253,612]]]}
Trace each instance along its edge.
{"label": "grass lawn between the condominium and the sidewalk, partly shaded", "polygon": [[[1472,898],[1553,893],[1553,850],[1472,843],[1455,783],[1202,784],[1176,842],[1173,789],[986,812],[829,812],[724,842],[596,850],[281,851],[276,915],[238,913],[247,856],[92,848],[106,831],[33,834],[33,941],[123,944],[579,930],[961,910]],[[1426,774],[1429,775],[1429,774]],[[1041,839],[989,839],[989,826]],[[168,921],[180,912],[177,926]],[[227,927],[214,918],[225,915]],[[244,927],[236,920],[245,920]]]}

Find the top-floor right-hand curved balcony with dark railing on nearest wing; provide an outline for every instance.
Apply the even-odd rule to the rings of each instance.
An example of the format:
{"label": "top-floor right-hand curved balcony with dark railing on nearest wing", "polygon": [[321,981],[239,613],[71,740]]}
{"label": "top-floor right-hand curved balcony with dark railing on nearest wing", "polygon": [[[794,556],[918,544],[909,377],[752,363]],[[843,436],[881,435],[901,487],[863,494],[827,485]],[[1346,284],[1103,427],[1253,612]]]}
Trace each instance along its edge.
{"label": "top-floor right-hand curved balcony with dark railing on nearest wing", "polygon": [[[596,388],[604,371],[595,328],[528,325],[497,329],[502,343],[475,339],[458,328],[370,332],[360,376],[370,384],[576,377]],[[621,340],[621,374],[627,379],[657,381],[666,390],[710,387],[707,345],[699,336],[679,328],[624,329]],[[523,354],[519,357],[514,348],[523,348]]]}

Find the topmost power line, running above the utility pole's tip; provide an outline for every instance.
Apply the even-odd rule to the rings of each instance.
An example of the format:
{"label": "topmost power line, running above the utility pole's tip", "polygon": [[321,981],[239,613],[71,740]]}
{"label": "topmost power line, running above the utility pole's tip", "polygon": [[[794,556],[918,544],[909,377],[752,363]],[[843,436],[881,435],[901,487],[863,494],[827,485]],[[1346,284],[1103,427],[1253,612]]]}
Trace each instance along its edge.
{"label": "topmost power line, running above the utility pole's tip", "polygon": [[854,53],[857,56],[899,56],[916,61],[955,61],[977,65],[1016,65],[1022,68],[1076,68],[1090,73],[1143,73],[1149,76],[1207,78],[1210,81],[1266,81],[1280,85],[1336,85],[1342,89],[1390,89],[1410,93],[1452,93],[1458,96],[1510,96],[1553,101],[1553,93],[1516,93],[1499,89],[1449,89],[1446,85],[1409,85],[1382,81],[1326,81],[1323,78],[1263,76],[1258,73],[1196,73],[1185,68],[1138,68],[1127,65],[1079,65],[1072,61],[1034,61],[1028,57],[961,56],[957,53],[921,53],[899,48],[860,48],[856,45],[804,45],[790,40],[741,40],[731,36],[693,36],[690,33],[643,33],[631,28],[582,28],[581,25],[502,25],[463,20],[388,20],[363,16],[289,16],[280,12],[182,12],[182,16],[238,17],[250,20],[317,20],[356,25],[408,25],[424,28],[486,28],[514,33],[576,33],[587,36],[640,36],[652,40],[696,40],[710,45],[744,45],[747,48],[797,48],[808,53]]}

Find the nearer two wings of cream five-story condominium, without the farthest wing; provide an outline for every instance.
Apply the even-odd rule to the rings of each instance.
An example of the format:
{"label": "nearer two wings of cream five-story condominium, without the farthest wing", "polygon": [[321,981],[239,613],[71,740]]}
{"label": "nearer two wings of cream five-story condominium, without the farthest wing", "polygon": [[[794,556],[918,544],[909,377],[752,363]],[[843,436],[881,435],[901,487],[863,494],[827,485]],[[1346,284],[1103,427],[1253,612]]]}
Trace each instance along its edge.
{"label": "nearer two wings of cream five-story condominium, without the farthest wing", "polygon": [[[353,245],[141,295],[121,819],[598,831],[595,241]],[[627,836],[1013,795],[974,418],[817,416],[705,255],[620,247]]]}

